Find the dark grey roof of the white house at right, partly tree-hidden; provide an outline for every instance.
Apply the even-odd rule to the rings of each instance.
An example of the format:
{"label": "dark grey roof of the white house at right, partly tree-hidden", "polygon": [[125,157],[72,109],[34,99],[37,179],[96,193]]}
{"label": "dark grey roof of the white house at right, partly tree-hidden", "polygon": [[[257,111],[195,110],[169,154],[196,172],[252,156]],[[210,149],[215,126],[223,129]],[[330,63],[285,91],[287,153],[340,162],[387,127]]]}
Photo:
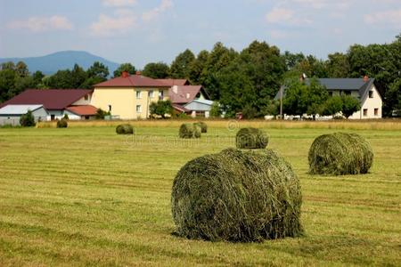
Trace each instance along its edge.
{"label": "dark grey roof of the white house at right, partly tree-hidden", "polygon": [[[341,91],[358,91],[360,98],[364,97],[374,84],[374,78],[370,78],[367,82],[363,78],[318,78],[321,85],[324,85],[327,90],[341,90]],[[306,80],[308,84],[310,79]],[[285,95],[285,88],[283,88],[283,96]],[[280,90],[274,97],[274,100],[280,99]]]}

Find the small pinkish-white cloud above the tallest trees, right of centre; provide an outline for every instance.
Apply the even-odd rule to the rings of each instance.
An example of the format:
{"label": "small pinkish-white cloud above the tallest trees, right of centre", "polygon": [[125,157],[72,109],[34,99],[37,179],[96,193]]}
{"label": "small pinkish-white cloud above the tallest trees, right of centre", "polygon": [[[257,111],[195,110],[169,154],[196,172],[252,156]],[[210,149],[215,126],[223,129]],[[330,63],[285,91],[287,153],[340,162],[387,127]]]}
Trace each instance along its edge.
{"label": "small pinkish-white cloud above the tallest trees, right of centre", "polygon": [[274,7],[271,12],[266,14],[266,20],[270,23],[282,23],[289,25],[311,24],[312,20],[302,18],[295,11],[288,8]]}

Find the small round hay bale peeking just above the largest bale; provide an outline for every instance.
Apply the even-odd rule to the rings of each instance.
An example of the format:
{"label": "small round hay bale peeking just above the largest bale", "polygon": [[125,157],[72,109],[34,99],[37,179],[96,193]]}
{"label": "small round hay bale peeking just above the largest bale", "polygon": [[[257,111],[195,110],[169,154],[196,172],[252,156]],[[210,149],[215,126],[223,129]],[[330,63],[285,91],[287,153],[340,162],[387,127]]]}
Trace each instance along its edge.
{"label": "small round hay bale peeking just above the largest bale", "polygon": [[235,137],[237,149],[266,149],[269,139],[267,134],[257,128],[241,128]]}

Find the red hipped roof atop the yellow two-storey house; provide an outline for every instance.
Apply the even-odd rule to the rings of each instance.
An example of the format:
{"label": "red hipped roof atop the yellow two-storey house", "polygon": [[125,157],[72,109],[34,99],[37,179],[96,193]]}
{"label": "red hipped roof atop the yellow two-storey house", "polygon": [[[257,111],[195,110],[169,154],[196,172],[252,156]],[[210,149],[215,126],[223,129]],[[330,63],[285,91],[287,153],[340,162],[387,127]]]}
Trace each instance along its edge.
{"label": "red hipped roof atop the yellow two-storey house", "polygon": [[94,87],[168,87],[168,85],[160,80],[135,74],[128,77],[115,77]]}

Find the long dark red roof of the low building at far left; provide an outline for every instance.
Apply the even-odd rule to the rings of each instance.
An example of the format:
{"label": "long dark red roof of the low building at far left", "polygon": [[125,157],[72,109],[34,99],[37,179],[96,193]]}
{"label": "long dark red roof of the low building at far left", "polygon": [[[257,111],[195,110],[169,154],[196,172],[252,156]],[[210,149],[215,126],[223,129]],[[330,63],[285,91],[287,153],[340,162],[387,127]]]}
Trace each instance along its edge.
{"label": "long dark red roof of the low building at far left", "polygon": [[6,105],[43,105],[45,109],[65,109],[74,102],[80,100],[93,90],[86,89],[27,89],[14,96],[11,100],[0,104],[0,108]]}

